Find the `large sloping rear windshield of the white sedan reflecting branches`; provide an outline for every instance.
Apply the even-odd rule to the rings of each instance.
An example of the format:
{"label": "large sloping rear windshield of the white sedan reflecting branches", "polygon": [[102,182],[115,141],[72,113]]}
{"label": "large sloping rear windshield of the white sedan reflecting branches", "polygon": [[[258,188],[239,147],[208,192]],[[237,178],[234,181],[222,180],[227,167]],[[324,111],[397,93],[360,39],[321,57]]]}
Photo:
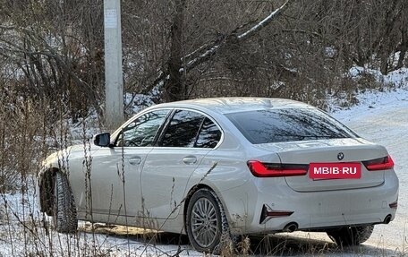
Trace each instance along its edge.
{"label": "large sloping rear windshield of the white sedan reflecting branches", "polygon": [[225,116],[253,144],[357,136],[344,124],[313,108],[255,110]]}

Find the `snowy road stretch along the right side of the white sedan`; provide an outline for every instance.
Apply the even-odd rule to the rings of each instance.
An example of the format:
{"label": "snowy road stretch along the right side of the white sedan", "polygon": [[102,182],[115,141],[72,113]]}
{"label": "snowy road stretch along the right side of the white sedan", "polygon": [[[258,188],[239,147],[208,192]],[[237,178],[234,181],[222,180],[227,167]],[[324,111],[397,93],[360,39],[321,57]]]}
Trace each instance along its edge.
{"label": "snowy road stretch along the right side of the white sedan", "polygon": [[408,83],[403,88],[383,93],[367,92],[359,96],[361,104],[333,116],[362,137],[382,144],[395,161],[400,180],[396,218],[379,225],[367,244],[381,245],[408,253]]}

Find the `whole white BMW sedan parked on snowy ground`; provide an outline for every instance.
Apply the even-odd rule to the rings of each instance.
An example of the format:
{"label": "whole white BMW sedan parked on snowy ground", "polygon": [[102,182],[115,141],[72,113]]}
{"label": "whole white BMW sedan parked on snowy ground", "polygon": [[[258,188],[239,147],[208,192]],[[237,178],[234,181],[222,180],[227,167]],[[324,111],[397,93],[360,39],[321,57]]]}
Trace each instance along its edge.
{"label": "whole white BMW sedan parked on snowy ground", "polygon": [[146,227],[186,234],[204,253],[293,231],[361,244],[395,218],[399,186],[385,147],[317,107],[268,98],[148,107],[52,154],[38,177],[59,232],[78,220]]}

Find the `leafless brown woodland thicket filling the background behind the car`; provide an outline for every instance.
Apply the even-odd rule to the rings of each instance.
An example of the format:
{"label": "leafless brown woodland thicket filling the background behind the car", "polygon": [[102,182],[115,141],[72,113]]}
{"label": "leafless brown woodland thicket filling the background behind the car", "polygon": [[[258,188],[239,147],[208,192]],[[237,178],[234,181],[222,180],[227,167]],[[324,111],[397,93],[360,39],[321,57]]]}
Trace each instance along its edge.
{"label": "leafless brown woodland thicket filling the background behind the car", "polygon": [[[354,64],[383,73],[406,65],[405,2],[125,1],[123,82],[135,99],[128,110],[143,102],[140,94],[156,102],[256,95],[320,105],[357,86],[344,77]],[[102,1],[0,4],[1,73],[14,90],[33,102],[63,100],[67,116],[101,115]]]}

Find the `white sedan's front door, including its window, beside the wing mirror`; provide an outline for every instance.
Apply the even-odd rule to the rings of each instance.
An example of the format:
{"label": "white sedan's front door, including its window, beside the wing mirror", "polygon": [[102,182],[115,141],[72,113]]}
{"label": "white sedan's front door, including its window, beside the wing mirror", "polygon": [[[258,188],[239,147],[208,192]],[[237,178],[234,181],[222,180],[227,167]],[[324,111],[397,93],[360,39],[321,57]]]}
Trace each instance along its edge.
{"label": "white sedan's front door, including its window, beside the wing mirror", "polygon": [[92,210],[115,216],[137,216],[141,206],[140,171],[170,109],[137,116],[123,126],[110,148],[92,157]]}

